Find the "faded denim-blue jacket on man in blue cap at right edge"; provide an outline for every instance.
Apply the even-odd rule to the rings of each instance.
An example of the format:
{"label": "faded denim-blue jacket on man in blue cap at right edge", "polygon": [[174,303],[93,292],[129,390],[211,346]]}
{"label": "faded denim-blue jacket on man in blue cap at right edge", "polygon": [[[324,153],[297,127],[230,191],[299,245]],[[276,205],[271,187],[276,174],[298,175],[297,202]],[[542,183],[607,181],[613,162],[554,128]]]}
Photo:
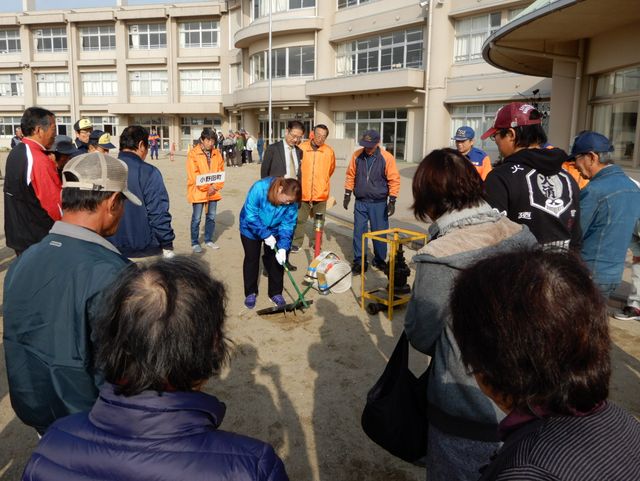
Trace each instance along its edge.
{"label": "faded denim-blue jacket on man in blue cap at right edge", "polygon": [[640,218],[640,189],[617,165],[580,191],[582,258],[597,284],[618,284],[631,234]]}

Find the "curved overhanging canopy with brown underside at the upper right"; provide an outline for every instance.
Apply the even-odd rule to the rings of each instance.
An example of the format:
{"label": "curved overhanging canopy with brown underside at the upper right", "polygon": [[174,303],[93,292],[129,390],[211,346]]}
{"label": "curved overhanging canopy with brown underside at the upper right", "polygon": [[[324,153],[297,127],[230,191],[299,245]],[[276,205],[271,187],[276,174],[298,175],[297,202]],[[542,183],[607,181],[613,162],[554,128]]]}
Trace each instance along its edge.
{"label": "curved overhanging canopy with brown underside at the upper right", "polygon": [[638,22],[638,0],[537,0],[487,39],[482,56],[503,70],[551,77],[554,59],[576,59],[577,40]]}

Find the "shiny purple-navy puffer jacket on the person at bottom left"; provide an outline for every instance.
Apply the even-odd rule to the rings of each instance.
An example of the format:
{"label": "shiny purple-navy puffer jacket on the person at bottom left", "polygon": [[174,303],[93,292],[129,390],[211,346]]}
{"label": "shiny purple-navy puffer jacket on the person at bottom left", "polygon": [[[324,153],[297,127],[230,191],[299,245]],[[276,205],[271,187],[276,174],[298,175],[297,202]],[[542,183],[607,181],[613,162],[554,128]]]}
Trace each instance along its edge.
{"label": "shiny purple-navy puffer jacket on the person at bottom left", "polygon": [[22,479],[287,481],[270,445],[218,429],[224,413],[201,392],[125,397],[105,384],[90,413],[49,428]]}

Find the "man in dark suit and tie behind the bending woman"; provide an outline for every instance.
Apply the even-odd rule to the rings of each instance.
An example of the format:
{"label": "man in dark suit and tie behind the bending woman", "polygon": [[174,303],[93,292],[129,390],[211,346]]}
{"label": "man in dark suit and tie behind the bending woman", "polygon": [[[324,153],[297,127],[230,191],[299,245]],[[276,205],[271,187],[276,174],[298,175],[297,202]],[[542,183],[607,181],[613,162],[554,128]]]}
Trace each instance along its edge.
{"label": "man in dark suit and tie behind the bending woman", "polygon": [[300,160],[302,150],[298,144],[304,135],[302,122],[292,120],[287,125],[284,140],[274,142],[267,147],[260,169],[260,177],[288,177],[300,179]]}

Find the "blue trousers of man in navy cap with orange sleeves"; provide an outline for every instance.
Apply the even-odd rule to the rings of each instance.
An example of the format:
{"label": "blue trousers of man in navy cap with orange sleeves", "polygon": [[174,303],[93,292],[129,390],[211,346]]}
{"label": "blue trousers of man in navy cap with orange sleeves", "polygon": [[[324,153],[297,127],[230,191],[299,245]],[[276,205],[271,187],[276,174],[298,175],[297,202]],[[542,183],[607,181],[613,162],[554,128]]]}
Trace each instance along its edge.
{"label": "blue trousers of man in navy cap with orange sleeves", "polygon": [[[387,203],[364,202],[356,199],[353,210],[353,262],[360,264],[362,260],[362,234],[371,231],[384,230],[389,228],[389,215],[387,214]],[[387,244],[380,241],[373,241],[374,261],[377,264],[383,263],[387,259]],[[365,246],[364,261],[367,262]]]}

